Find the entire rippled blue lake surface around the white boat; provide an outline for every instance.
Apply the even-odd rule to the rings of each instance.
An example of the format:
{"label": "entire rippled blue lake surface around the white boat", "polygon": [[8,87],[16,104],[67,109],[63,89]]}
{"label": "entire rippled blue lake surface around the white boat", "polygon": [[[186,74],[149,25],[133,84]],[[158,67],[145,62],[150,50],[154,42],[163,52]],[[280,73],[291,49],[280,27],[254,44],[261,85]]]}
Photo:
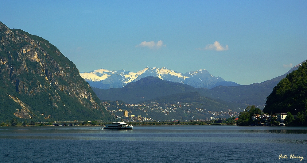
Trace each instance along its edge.
{"label": "entire rippled blue lake surface around the white boat", "polygon": [[99,128],[0,127],[0,162],[307,162],[307,127]]}

